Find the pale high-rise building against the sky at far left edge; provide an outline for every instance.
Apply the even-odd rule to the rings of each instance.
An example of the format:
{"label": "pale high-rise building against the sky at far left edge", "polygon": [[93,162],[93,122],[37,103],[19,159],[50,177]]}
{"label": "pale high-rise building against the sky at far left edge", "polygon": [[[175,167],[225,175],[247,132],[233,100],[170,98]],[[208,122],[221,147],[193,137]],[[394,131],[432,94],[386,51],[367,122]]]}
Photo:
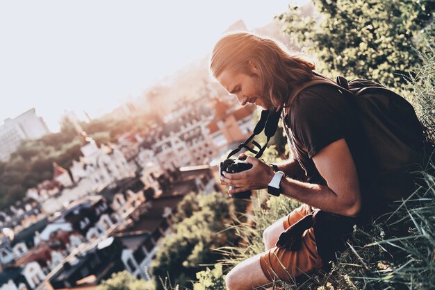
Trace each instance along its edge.
{"label": "pale high-rise building against the sky at far left edge", "polygon": [[6,119],[0,126],[0,160],[8,160],[26,139],[38,139],[50,133],[42,117],[31,108],[14,119]]}

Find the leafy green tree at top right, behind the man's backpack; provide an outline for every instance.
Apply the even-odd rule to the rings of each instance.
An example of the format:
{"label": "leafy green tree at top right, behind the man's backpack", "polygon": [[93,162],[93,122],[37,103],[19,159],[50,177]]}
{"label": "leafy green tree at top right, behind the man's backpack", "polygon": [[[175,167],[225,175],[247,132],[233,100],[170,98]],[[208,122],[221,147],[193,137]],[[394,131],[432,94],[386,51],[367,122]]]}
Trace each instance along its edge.
{"label": "leafy green tree at top right, behind the man's backpack", "polygon": [[279,15],[284,31],[335,77],[378,80],[404,87],[409,70],[421,64],[418,51],[434,40],[434,0],[314,0],[320,15],[297,7]]}

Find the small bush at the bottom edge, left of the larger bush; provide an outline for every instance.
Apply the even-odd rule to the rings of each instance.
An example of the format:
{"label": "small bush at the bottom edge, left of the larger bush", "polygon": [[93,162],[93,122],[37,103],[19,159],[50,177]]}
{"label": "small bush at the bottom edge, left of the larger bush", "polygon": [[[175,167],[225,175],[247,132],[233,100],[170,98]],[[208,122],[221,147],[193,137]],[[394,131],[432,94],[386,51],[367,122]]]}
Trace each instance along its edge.
{"label": "small bush at the bottom edge, left of the larger bush", "polygon": [[131,275],[128,271],[113,273],[110,279],[99,284],[97,290],[144,290],[151,289],[149,283]]}

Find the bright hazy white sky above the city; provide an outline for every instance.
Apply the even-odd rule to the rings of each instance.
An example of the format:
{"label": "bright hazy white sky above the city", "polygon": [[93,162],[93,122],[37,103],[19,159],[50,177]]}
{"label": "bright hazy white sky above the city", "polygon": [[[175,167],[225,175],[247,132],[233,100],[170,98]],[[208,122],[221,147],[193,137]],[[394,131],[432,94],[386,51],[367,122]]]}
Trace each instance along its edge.
{"label": "bright hazy white sky above the city", "polygon": [[35,108],[56,132],[65,110],[110,112],[206,56],[238,19],[264,26],[289,3],[0,0],[0,125]]}

